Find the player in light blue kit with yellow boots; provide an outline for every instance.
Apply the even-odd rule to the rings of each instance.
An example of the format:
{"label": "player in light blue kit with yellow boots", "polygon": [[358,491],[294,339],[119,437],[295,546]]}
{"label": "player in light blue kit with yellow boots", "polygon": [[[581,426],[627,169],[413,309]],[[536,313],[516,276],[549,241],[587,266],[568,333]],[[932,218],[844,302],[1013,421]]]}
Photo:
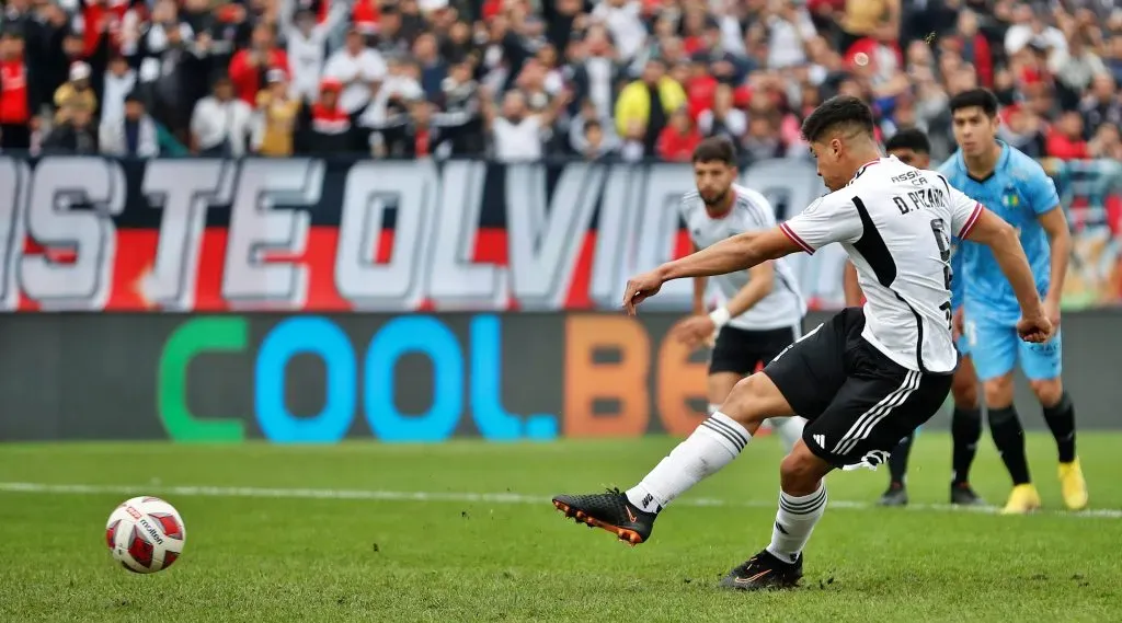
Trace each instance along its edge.
{"label": "player in light blue kit with yellow boots", "polygon": [[951,97],[950,111],[958,151],[939,173],[951,186],[1017,229],[1037,290],[1057,326],[1047,343],[1019,340],[1014,328],[1019,317],[1017,298],[993,252],[981,244],[962,242],[965,319],[959,313],[956,324],[969,342],[984,385],[990,430],[1013,480],[1003,512],[1026,513],[1040,506],[1024,458],[1023,429],[1013,408],[1013,370],[1018,361],[1056,438],[1064,503],[1072,510],[1083,509],[1087,505],[1087,485],[1075,454],[1075,410],[1060,380],[1059,301],[1072,252],[1067,218],[1056,185],[1040,165],[996,139],[997,99],[993,93],[983,89],[959,93]]}

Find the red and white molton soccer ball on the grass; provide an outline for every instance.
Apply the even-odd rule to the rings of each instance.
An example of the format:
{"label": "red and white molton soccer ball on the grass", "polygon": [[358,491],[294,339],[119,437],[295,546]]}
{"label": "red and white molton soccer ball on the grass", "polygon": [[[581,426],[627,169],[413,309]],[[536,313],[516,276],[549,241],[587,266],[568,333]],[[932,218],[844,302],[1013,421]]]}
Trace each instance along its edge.
{"label": "red and white molton soccer ball on the grass", "polygon": [[105,545],[113,559],[138,574],[171,567],[183,554],[186,539],[180,511],[159,498],[126,500],[105,523]]}

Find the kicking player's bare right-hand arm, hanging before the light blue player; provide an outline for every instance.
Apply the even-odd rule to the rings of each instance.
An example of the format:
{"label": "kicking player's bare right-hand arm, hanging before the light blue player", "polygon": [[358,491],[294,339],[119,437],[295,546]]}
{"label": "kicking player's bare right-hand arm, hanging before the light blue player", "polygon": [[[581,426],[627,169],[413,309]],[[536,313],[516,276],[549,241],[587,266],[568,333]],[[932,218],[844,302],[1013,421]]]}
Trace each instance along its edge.
{"label": "kicking player's bare right-hand arm, hanging before the light blue player", "polygon": [[985,207],[980,205],[977,211],[977,217],[965,227],[960,238],[985,244],[993,252],[997,267],[1009,279],[1017,303],[1021,306],[1022,320],[1018,326],[1021,337],[1029,342],[1047,342],[1051,337],[1052,326],[1045,315],[1043,303],[1037,292],[1032,269],[1017,231]]}

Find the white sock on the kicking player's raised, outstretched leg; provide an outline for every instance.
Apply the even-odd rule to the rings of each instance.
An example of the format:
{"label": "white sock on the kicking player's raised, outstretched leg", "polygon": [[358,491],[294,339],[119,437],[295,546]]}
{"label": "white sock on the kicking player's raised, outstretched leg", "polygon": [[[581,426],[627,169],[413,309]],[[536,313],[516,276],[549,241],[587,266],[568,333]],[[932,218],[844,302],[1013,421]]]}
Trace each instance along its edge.
{"label": "white sock on the kicking player's raised, outstretched leg", "polygon": [[733,418],[716,412],[702,421],[651,473],[627,491],[627,500],[646,512],[659,512],[674,498],[728,465],[752,435]]}

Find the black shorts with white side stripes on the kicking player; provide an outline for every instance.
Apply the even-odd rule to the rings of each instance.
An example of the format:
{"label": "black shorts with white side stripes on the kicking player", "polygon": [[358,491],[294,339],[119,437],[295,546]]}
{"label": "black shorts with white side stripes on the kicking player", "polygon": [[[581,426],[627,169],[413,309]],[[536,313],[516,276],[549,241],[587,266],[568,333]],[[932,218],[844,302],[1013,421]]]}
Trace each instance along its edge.
{"label": "black shorts with white side stripes on the kicking player", "polygon": [[875,466],[942,407],[950,374],[908,370],[861,336],[865,314],[843,309],[764,368],[794,412],[802,440],[836,467]]}

